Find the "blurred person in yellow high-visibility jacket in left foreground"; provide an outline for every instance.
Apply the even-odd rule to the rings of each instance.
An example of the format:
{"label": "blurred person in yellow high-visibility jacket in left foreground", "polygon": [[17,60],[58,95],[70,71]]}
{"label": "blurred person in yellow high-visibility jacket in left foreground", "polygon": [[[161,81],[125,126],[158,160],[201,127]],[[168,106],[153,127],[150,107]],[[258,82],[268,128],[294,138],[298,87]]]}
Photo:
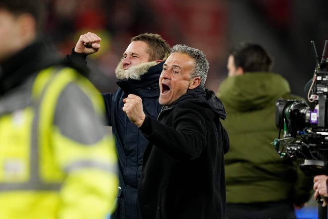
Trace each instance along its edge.
{"label": "blurred person in yellow high-visibility jacket in left foreground", "polygon": [[103,219],[118,185],[103,102],[42,42],[45,7],[0,1],[0,218]]}

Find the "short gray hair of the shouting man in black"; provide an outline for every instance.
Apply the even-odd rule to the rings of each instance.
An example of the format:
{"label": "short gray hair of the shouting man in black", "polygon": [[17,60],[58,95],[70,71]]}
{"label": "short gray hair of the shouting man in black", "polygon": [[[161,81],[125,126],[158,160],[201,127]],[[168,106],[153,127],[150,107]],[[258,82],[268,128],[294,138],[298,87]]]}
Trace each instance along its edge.
{"label": "short gray hair of the shouting man in black", "polygon": [[195,61],[194,71],[190,74],[191,78],[200,77],[200,86],[204,86],[209,64],[205,57],[205,54],[199,50],[186,45],[177,44],[171,49],[171,53],[180,52],[189,55]]}

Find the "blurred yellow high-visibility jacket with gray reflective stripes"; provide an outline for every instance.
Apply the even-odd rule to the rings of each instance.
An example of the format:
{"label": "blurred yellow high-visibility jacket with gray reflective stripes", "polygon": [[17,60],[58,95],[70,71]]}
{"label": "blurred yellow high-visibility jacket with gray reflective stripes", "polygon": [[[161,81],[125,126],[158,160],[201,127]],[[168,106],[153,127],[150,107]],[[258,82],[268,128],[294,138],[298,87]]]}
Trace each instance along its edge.
{"label": "blurred yellow high-visibility jacket with gray reflective stripes", "polygon": [[82,144],[53,124],[57,100],[70,83],[103,115],[101,96],[72,68],[42,70],[0,99],[0,219],[104,219],[113,208],[112,138]]}

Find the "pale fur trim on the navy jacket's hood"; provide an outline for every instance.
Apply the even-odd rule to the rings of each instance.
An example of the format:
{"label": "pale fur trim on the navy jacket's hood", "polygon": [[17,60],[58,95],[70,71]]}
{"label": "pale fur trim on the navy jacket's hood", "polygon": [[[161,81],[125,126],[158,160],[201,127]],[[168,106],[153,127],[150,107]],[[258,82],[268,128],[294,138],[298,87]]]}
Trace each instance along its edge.
{"label": "pale fur trim on the navy jacket's hood", "polygon": [[123,65],[122,65],[122,60],[118,63],[116,70],[115,70],[115,74],[116,74],[116,78],[120,79],[120,80],[124,80],[124,79],[134,79],[134,80],[140,80],[141,76],[146,74],[148,72],[148,70],[157,65],[158,63],[156,61],[152,61],[152,62],[146,62],[146,63],[141,63],[139,65],[133,66],[127,70],[123,69]]}

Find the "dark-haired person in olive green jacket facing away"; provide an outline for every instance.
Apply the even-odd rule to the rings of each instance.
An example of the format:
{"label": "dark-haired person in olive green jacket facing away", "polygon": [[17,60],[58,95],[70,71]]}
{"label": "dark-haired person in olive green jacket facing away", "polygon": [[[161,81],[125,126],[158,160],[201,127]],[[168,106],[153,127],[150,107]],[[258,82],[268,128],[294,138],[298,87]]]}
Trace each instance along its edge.
{"label": "dark-haired person in olive green jacket facing away", "polygon": [[227,219],[295,218],[294,207],[303,207],[311,196],[312,179],[290,158],[280,158],[271,144],[278,135],[275,102],[300,97],[290,94],[286,79],[270,67],[262,46],[239,43],[219,87],[228,115],[222,123],[230,137]]}

